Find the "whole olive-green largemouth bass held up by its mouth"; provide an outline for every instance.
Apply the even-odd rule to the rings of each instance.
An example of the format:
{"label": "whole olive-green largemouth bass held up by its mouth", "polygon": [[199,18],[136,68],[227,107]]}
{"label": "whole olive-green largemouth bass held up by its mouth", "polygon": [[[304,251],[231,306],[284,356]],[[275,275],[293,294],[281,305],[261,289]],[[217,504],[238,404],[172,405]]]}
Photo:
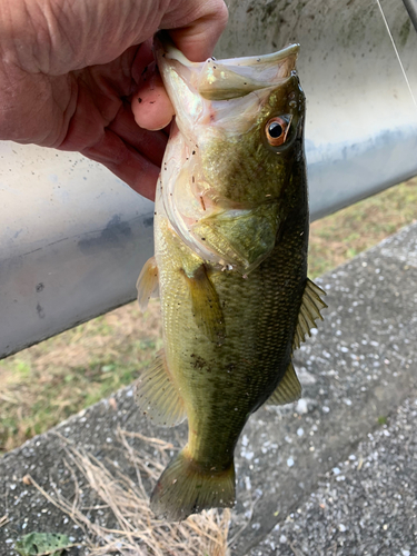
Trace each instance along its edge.
{"label": "whole olive-green largemouth bass held up by its mouth", "polygon": [[300,397],[291,354],[326,307],[307,278],[298,48],[195,63],[157,44],[176,120],[138,297],[145,310],[159,285],[165,348],[137,400],[157,425],[188,418],[150,500],[169,520],[235,504],[239,435],[262,404]]}

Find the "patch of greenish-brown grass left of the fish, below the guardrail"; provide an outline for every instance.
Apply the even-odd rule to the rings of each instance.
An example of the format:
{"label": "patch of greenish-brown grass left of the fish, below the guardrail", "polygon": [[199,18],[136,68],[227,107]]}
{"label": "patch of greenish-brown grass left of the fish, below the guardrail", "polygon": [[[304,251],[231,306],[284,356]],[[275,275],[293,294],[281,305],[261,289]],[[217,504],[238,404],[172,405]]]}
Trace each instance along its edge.
{"label": "patch of greenish-brown grass left of the fish, below the guardrail", "polygon": [[0,451],[131,384],[161,347],[157,304],[130,304],[0,361]]}

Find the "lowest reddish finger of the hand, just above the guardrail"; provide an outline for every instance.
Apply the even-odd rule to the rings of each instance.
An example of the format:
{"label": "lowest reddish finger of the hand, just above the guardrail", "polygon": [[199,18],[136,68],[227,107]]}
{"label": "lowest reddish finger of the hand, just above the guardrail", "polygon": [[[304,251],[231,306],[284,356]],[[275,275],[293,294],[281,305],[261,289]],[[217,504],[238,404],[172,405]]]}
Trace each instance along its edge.
{"label": "lowest reddish finger of the hand, just above the guardrail", "polygon": [[159,167],[126,145],[110,129],[106,130],[101,140],[93,147],[83,149],[81,152],[91,160],[106,166],[138,193],[155,200]]}

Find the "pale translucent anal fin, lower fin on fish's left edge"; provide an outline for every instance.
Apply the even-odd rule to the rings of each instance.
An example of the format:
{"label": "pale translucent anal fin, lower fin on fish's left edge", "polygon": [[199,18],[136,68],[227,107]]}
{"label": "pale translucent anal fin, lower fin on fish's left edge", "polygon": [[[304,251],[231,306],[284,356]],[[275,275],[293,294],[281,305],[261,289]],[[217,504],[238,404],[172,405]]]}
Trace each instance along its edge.
{"label": "pale translucent anal fin, lower fin on fish's left edge", "polygon": [[136,401],[155,425],[173,427],[187,417],[182,398],[169,373],[163,349],[137,380]]}

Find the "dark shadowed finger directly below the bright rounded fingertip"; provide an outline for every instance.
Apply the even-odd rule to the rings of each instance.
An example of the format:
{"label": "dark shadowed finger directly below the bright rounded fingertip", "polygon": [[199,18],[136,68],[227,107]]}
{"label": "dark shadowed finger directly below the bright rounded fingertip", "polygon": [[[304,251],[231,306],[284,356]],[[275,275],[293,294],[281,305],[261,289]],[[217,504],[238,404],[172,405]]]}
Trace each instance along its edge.
{"label": "dark shadowed finger directly below the bright rounded fingertip", "polygon": [[118,135],[126,145],[143,155],[150,162],[161,166],[167,135],[163,131],[148,131],[138,127],[130,105],[123,103],[120,107],[107,129]]}

